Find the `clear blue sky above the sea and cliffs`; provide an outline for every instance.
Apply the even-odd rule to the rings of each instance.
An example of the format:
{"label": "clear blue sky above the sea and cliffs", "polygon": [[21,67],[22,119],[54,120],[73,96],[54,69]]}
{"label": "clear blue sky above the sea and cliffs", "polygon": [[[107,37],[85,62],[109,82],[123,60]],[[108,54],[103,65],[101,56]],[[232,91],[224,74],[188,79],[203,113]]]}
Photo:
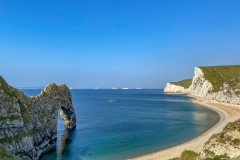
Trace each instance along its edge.
{"label": "clear blue sky above the sea and cliffs", "polygon": [[0,0],[0,75],[15,87],[163,88],[239,64],[239,0]]}

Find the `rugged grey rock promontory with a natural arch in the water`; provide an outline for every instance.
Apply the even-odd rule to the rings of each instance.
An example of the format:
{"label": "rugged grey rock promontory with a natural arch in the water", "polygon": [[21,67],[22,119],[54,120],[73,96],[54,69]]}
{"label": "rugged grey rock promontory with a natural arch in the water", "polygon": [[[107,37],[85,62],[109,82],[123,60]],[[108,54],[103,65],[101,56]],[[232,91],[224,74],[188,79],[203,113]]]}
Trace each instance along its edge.
{"label": "rugged grey rock promontory with a natural arch in the water", "polygon": [[76,126],[71,93],[66,85],[48,85],[27,97],[0,77],[0,145],[22,159],[38,159],[55,146],[58,110],[68,129]]}

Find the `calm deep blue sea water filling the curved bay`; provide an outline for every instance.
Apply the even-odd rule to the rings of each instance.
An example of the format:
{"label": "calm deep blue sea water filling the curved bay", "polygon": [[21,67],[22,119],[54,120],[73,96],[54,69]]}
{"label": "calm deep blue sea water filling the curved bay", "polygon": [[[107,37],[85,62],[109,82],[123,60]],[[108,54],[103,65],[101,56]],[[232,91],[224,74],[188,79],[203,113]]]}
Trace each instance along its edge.
{"label": "calm deep blue sea water filling the curved bay", "polygon": [[[22,90],[37,95],[40,90]],[[77,127],[58,117],[56,150],[42,160],[121,160],[186,142],[208,130],[218,114],[163,90],[71,90]],[[116,100],[110,103],[109,100]]]}

